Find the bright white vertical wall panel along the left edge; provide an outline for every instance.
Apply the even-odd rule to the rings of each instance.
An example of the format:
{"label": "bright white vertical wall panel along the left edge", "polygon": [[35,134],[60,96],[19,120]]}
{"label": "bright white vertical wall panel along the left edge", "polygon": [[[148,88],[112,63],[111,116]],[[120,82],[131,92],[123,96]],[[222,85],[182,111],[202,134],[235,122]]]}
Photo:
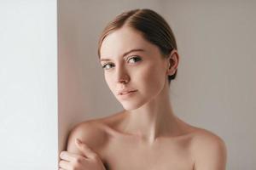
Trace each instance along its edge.
{"label": "bright white vertical wall panel along the left edge", "polygon": [[55,0],[0,1],[0,168],[57,169]]}

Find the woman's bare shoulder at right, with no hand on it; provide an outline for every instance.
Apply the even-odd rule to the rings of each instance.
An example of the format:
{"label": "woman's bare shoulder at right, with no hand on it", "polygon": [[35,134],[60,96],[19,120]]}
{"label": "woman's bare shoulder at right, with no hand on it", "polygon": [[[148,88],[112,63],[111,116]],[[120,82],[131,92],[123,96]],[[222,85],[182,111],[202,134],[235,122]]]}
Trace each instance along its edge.
{"label": "woman's bare shoulder at right, with no hand on it", "polygon": [[191,139],[191,151],[195,160],[195,170],[225,169],[226,145],[217,134],[197,128]]}

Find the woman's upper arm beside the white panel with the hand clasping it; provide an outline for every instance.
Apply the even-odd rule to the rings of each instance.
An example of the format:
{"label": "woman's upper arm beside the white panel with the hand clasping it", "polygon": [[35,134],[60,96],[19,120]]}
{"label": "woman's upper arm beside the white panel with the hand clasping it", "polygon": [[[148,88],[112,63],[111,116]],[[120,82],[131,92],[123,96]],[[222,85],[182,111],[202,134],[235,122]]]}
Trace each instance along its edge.
{"label": "woman's upper arm beside the white panel with the hand clasping it", "polygon": [[97,136],[103,135],[93,123],[84,122],[73,127],[67,139],[67,151],[61,151],[60,167],[67,170],[106,170],[100,156],[91,147],[95,146],[94,148],[98,149],[97,147],[101,144]]}

